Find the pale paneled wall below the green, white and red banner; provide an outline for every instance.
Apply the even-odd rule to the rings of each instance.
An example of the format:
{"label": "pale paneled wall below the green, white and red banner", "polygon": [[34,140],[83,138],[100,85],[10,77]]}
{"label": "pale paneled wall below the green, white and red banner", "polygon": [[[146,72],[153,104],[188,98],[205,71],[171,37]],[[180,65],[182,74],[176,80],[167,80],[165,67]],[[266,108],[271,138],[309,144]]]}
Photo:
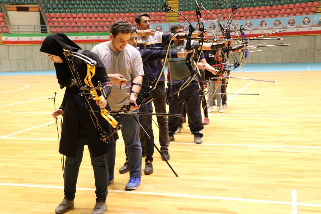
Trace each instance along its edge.
{"label": "pale paneled wall below the green, white and red banner", "polygon": [[[261,40],[249,44],[277,44],[287,41],[291,46],[248,53],[247,64],[321,62],[320,35],[288,36],[283,41]],[[96,44],[80,44],[80,47],[91,50],[94,45]],[[0,45],[0,72],[54,70],[54,64],[39,49],[40,45]]]}

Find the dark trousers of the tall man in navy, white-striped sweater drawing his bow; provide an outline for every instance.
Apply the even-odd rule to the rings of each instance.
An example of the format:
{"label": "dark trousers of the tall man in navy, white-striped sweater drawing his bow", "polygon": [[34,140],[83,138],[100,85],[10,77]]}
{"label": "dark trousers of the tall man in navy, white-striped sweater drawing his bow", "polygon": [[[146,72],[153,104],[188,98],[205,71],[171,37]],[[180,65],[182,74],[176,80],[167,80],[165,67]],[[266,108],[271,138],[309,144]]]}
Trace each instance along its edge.
{"label": "dark trousers of the tall man in navy, white-striped sweater drawing his bow", "polygon": [[[166,113],[165,81],[159,81],[152,90],[153,103],[156,113]],[[156,116],[159,127],[160,150],[168,150],[168,121],[166,116]]]}

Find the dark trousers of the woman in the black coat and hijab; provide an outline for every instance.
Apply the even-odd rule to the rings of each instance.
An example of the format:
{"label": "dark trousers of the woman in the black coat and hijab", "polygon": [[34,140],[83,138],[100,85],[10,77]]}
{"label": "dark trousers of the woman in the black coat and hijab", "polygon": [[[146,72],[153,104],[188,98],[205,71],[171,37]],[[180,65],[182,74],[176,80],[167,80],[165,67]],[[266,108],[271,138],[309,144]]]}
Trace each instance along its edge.
{"label": "dark trousers of the woman in the black coat and hijab", "polygon": [[[80,163],[82,161],[83,148],[86,144],[85,137],[78,137],[77,139],[77,154],[76,158],[66,156],[65,161],[65,199],[74,200],[76,193],[76,183],[78,178],[78,172]],[[106,161],[106,155],[93,158],[90,153],[91,165],[94,170],[95,186],[96,186],[96,201],[104,202],[107,196],[108,186],[108,165]]]}

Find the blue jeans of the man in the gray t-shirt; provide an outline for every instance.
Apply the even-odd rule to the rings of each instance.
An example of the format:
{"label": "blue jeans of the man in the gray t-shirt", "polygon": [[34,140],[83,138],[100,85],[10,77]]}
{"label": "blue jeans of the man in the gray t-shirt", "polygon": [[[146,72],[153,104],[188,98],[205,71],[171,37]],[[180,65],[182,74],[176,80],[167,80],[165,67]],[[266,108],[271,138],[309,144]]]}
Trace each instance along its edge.
{"label": "blue jeans of the man in the gray t-shirt", "polygon": [[[134,112],[139,112],[136,109]],[[122,124],[121,133],[125,142],[125,149],[128,155],[129,175],[131,177],[142,176],[142,146],[139,140],[139,125],[134,117],[139,120],[139,116],[120,115],[117,118],[118,124]],[[116,149],[106,154],[109,176],[114,175]]]}

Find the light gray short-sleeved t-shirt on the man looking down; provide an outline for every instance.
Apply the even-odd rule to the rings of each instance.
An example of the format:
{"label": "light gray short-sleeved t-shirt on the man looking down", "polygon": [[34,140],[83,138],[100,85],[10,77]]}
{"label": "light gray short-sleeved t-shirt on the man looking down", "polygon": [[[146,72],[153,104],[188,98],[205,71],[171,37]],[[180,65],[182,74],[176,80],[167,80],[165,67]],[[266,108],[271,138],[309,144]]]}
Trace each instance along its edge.
{"label": "light gray short-sleeved t-shirt on the man looking down", "polygon": [[[130,86],[133,77],[144,75],[142,57],[139,51],[131,45],[127,45],[123,51],[113,51],[109,48],[108,42],[103,42],[93,47],[91,51],[99,56],[108,74],[123,75]],[[108,97],[111,110],[119,111],[123,105],[129,104],[129,98],[130,88],[126,84],[123,84],[120,89],[114,84]]]}

